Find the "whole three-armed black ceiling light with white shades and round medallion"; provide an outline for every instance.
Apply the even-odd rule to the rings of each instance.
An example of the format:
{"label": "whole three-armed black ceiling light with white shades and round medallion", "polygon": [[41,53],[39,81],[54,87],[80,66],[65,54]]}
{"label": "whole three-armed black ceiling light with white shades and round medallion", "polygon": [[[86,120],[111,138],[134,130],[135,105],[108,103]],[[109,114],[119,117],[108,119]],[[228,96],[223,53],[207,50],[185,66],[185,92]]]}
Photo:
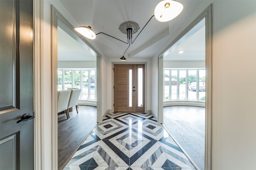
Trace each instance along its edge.
{"label": "whole three-armed black ceiling light with white shades and round medallion", "polygon": [[[180,2],[177,2],[175,0],[163,0],[157,4],[154,10],[153,16],[155,16],[156,20],[160,22],[167,22],[172,20],[176,16],[178,16],[182,12],[182,10],[183,10],[183,5],[180,4]],[[148,22],[153,18],[153,16],[148,20]],[[148,24],[148,22],[146,23],[146,25]],[[145,26],[142,28],[142,30],[145,28]],[[115,38],[116,40],[129,44],[129,46],[127,47],[128,49],[131,43],[134,43],[136,38],[140,35],[142,30],[140,30],[139,34],[136,36],[136,38],[133,41],[132,41],[132,33],[136,33],[139,29],[140,29],[139,25],[131,21],[124,22],[123,24],[120,25],[119,30],[124,34],[127,34],[127,43],[122,40],[119,40],[118,38],[105,34],[103,32],[100,32],[98,34],[105,34],[106,36],[110,36],[112,38]],[[77,27],[75,28],[75,30],[80,34],[82,34],[83,36],[85,36],[86,38],[89,38],[91,40],[94,40],[96,38],[96,35],[98,35],[92,31],[92,28],[90,26]],[[127,51],[127,49],[124,51],[124,54]],[[124,55],[120,58],[120,60],[126,61],[126,58],[124,57]]]}

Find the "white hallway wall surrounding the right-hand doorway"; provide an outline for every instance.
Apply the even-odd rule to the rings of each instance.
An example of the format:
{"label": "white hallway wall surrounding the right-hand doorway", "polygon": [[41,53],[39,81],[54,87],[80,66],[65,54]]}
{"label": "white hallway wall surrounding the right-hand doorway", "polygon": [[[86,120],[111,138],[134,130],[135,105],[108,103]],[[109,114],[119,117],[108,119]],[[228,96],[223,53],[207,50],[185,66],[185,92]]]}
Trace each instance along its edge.
{"label": "white hallway wall surrounding the right-hand doorway", "polygon": [[[170,44],[210,3],[213,4],[212,170],[256,169],[256,1],[202,0]],[[157,61],[152,61],[152,103]],[[152,111],[157,111],[153,106]]]}

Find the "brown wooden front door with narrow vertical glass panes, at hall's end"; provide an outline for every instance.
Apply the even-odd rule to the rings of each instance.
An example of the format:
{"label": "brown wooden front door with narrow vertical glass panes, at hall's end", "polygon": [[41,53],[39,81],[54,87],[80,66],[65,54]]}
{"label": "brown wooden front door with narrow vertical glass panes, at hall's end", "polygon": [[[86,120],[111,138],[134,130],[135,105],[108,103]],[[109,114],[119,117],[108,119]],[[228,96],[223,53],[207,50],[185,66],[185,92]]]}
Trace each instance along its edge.
{"label": "brown wooden front door with narrow vertical glass panes, at hall's end", "polygon": [[114,64],[114,112],[144,113],[144,64]]}

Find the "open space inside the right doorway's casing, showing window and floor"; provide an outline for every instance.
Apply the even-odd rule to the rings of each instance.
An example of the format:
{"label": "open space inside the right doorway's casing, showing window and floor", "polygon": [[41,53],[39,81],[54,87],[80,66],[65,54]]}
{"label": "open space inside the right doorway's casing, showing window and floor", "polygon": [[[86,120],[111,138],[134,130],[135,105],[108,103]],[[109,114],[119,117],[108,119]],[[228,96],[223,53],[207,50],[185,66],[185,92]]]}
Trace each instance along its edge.
{"label": "open space inside the right doorway's casing, showing window and floor", "polygon": [[205,29],[203,18],[164,57],[164,127],[200,170],[205,146]]}

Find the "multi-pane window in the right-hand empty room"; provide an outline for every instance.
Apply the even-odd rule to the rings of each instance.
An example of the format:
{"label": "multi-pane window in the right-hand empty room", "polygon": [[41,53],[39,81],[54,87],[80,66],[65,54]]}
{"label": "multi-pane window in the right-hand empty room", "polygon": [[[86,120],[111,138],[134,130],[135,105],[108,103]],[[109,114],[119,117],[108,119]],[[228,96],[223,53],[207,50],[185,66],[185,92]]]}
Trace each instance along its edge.
{"label": "multi-pane window in the right-hand empty room", "polygon": [[164,69],[164,101],[205,101],[205,69]]}

